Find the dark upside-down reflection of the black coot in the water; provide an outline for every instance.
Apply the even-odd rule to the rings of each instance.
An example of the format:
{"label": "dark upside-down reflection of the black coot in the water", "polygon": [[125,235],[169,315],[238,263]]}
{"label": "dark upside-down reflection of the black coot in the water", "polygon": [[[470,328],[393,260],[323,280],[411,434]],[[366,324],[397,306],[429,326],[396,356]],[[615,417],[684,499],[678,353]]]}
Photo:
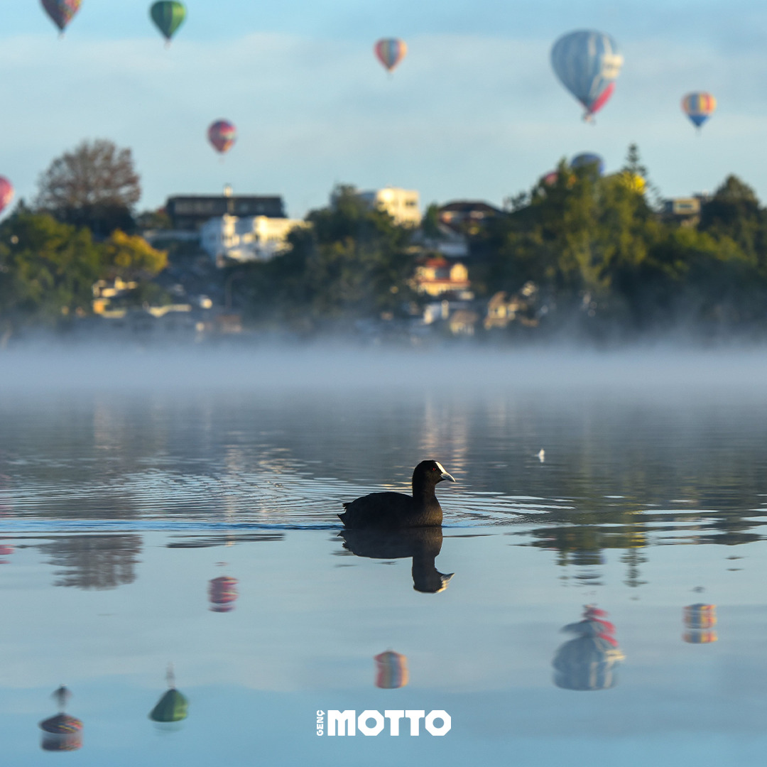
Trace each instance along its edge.
{"label": "dark upside-down reflection of the black coot in the water", "polygon": [[370,559],[413,558],[413,588],[424,594],[445,591],[453,573],[441,573],[434,560],[442,549],[442,529],[438,527],[402,530],[344,529],[338,534],[344,548],[357,557]]}

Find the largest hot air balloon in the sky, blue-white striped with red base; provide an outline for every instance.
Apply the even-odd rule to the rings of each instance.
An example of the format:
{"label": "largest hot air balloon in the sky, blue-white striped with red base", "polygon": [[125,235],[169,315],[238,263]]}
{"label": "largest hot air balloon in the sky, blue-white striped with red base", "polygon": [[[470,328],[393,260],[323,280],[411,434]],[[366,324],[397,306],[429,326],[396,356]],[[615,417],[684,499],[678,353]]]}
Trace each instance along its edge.
{"label": "largest hot air balloon in the sky, blue-white striped with red base", "polygon": [[580,30],[563,35],[551,48],[551,66],[568,91],[586,107],[591,120],[615,88],[624,58],[610,35]]}

